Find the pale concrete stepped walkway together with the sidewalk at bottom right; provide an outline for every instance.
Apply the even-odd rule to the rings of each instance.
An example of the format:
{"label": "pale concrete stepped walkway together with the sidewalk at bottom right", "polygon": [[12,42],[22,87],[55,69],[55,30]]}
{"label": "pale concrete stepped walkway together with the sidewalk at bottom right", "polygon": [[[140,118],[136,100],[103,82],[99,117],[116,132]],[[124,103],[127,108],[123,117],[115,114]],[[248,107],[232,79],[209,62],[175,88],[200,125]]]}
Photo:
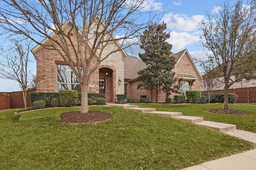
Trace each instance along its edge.
{"label": "pale concrete stepped walkway together with the sidewalk at bottom right", "polygon": [[[109,105],[121,107],[124,109],[136,110],[139,112],[174,117],[183,121],[188,121],[190,123],[196,123],[198,125],[214,129],[216,131],[221,131],[228,135],[235,136],[256,144],[256,133],[238,130],[236,129],[236,125],[204,121],[202,117],[184,116],[180,112],[156,111],[156,109],[140,108],[136,105]],[[184,168],[182,170],[256,170],[256,149],[248,150],[239,154],[234,154],[225,158],[212,160],[199,165]]]}

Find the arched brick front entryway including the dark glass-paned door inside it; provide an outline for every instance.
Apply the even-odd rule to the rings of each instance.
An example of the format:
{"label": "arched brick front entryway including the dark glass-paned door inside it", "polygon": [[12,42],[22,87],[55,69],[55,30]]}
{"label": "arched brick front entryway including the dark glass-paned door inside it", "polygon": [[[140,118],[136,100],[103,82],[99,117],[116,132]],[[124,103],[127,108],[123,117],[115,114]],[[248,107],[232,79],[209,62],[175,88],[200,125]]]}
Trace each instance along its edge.
{"label": "arched brick front entryway including the dark glass-paned door inside it", "polygon": [[106,102],[114,103],[115,101],[115,77],[116,72],[114,68],[108,65],[101,65],[99,69],[99,93],[104,94]]}

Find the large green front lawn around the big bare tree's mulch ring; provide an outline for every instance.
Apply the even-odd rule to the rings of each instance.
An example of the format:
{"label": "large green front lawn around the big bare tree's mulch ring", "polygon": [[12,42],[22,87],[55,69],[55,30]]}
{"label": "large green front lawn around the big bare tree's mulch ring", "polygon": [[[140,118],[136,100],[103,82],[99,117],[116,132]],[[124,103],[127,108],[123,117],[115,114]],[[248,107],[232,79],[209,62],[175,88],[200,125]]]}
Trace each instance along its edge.
{"label": "large green front lawn around the big bare tree's mulch ring", "polygon": [[0,112],[1,169],[175,170],[254,146],[192,123],[117,107],[90,107],[114,115],[100,123],[60,122],[58,114],[77,109]]}

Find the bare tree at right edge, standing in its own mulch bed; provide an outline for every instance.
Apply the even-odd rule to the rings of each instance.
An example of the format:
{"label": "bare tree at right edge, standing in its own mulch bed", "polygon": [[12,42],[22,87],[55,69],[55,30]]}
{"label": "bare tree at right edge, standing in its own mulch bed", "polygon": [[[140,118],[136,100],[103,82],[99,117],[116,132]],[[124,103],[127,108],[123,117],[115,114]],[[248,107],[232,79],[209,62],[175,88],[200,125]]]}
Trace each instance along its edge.
{"label": "bare tree at right edge, standing in its own mulch bed", "polygon": [[202,45],[212,53],[212,61],[224,77],[224,109],[228,109],[228,88],[243,78],[256,78],[256,1],[243,4],[238,0],[233,6],[229,1],[218,8],[218,13],[208,14],[202,21]]}

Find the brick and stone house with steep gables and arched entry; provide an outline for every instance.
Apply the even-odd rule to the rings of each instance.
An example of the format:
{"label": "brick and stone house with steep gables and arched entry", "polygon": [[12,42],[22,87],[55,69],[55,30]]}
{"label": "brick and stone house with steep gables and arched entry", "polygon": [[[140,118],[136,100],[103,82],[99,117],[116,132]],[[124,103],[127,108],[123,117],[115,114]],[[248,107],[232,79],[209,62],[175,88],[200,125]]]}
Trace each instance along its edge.
{"label": "brick and stone house with steep gables and arched entry", "polygon": [[[68,22],[62,26],[64,31],[70,30],[70,27]],[[69,34],[75,40],[75,33],[71,31]],[[59,39],[54,33],[50,36]],[[47,44],[50,41],[46,38],[42,43]],[[104,50],[108,53],[116,47],[120,48],[117,42],[108,45]],[[87,49],[87,53],[90,53],[91,47],[89,46]],[[56,50],[37,45],[32,49],[32,53],[36,59],[37,77],[40,80],[36,84],[37,92],[58,92],[63,89],[81,92],[81,87],[72,69]],[[96,55],[98,54],[96,53]],[[188,50],[185,49],[179,53],[173,53],[173,55],[176,58],[176,66],[173,71],[176,72],[177,83],[181,85],[180,95],[185,95],[186,90],[200,90],[202,77]],[[137,72],[145,67],[146,65],[140,59],[128,56],[124,50],[112,53],[94,71],[88,92],[102,93],[106,102],[110,103],[117,102],[116,94],[127,94],[127,97],[133,97],[136,100],[140,98],[140,95],[147,95],[148,102],[154,102],[155,96],[152,92],[137,90],[139,82]],[[174,95],[177,94],[172,94],[169,97],[173,98]],[[166,98],[166,94],[161,92],[158,100],[165,102]]]}

